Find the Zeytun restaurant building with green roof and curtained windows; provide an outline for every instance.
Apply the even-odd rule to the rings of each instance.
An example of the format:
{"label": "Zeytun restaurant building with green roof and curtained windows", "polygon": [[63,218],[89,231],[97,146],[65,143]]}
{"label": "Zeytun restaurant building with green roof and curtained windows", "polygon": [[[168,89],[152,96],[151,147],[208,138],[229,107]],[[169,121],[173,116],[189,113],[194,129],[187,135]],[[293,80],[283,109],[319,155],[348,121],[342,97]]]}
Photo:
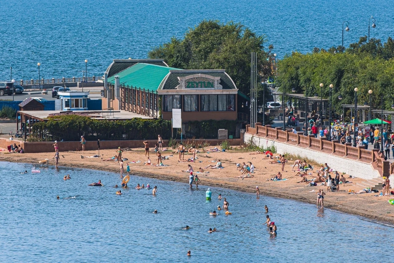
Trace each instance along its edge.
{"label": "Zeytun restaurant building with green roof and curtained windows", "polygon": [[224,69],[176,69],[164,60],[113,60],[104,87],[103,109],[166,120],[181,109],[182,122],[236,120],[248,100]]}

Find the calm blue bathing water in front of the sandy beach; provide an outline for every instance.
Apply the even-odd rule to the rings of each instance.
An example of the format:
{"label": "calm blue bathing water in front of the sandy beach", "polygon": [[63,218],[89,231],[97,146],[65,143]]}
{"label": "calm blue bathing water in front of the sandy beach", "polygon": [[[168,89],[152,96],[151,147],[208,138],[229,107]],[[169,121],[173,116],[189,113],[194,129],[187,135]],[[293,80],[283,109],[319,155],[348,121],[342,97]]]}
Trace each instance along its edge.
{"label": "calm blue bathing water in front of the sandy beach", "polygon": [[[383,262],[382,244],[394,242],[394,228],[297,201],[211,188],[209,202],[207,187],[134,176],[129,186],[157,185],[157,196],[134,188],[117,196],[114,173],[50,167],[19,174],[30,168],[0,162],[0,262],[316,262],[317,255],[318,262]],[[87,186],[99,179],[104,187]],[[209,215],[223,205],[219,193],[232,215]],[[264,205],[276,237],[262,225]]]}

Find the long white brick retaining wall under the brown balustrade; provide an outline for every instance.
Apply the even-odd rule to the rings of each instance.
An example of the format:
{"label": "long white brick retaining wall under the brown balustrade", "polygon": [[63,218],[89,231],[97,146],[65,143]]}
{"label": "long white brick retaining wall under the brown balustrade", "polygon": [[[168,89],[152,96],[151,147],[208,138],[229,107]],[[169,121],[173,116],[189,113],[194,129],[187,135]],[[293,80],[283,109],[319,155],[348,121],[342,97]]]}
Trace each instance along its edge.
{"label": "long white brick retaining wall under the brown balustrade", "polygon": [[[252,134],[245,133],[244,142],[250,142],[251,138]],[[304,148],[297,145],[286,144],[284,142],[273,141],[264,137],[253,136],[253,142],[255,142],[256,145],[264,148],[275,145],[277,153],[280,154],[289,153],[292,155],[299,155],[322,164],[327,162],[330,168],[337,170],[339,173],[345,172],[351,176],[356,176],[362,179],[373,179],[380,177],[379,172],[375,170],[371,164],[366,162],[324,153],[316,149]]]}

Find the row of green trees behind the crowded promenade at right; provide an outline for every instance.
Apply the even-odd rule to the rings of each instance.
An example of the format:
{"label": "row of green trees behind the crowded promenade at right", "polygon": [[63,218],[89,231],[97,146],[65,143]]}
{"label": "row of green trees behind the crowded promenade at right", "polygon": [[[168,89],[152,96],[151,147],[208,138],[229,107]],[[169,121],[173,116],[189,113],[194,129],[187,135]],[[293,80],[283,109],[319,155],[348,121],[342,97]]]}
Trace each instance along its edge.
{"label": "row of green trees behind the crowded promenade at right", "polygon": [[[337,51],[337,52],[335,52]],[[339,51],[339,52],[338,52]],[[394,91],[394,41],[391,37],[383,45],[380,39],[360,37],[360,41],[349,45],[344,52],[338,48],[328,51],[314,48],[312,53],[293,52],[278,62],[278,83],[291,84],[296,93],[320,95],[319,84],[323,83],[323,98],[329,96],[329,85],[333,84],[333,104],[339,110],[340,104],[354,103],[354,88],[358,88],[359,104],[369,103],[368,90],[372,90],[372,107],[381,107],[381,95]],[[335,52],[335,53],[334,53]],[[289,83],[289,84],[288,84]],[[334,95],[335,94],[335,95]],[[334,99],[343,96],[342,101]],[[385,97],[385,108],[391,108],[393,101]]]}

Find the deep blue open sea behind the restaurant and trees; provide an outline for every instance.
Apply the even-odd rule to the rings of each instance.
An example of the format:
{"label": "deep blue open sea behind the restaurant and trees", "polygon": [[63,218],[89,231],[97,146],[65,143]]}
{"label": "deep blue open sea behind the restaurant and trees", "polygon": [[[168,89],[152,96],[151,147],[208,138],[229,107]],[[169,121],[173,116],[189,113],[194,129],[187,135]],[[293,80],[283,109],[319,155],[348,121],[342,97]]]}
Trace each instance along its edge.
{"label": "deep blue open sea behind the restaurant and trees", "polygon": [[265,34],[278,58],[292,50],[345,46],[368,34],[394,36],[390,0],[12,0],[1,1],[0,79],[101,76],[114,58],[146,58],[203,19],[242,22]]}

